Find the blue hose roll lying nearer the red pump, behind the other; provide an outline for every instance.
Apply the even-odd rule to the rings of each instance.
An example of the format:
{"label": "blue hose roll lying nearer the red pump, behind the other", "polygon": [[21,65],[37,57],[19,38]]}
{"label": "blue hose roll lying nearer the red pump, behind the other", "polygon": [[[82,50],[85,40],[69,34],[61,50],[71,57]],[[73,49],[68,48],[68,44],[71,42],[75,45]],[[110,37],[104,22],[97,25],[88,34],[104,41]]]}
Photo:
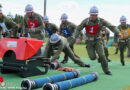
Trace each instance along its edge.
{"label": "blue hose roll lying nearer the red pump, behind the other", "polygon": [[45,83],[56,83],[59,81],[69,80],[79,77],[79,71],[67,72],[64,74],[54,75],[46,78],[35,79],[33,81],[25,79],[21,82],[21,87],[26,87],[28,90],[41,88]]}

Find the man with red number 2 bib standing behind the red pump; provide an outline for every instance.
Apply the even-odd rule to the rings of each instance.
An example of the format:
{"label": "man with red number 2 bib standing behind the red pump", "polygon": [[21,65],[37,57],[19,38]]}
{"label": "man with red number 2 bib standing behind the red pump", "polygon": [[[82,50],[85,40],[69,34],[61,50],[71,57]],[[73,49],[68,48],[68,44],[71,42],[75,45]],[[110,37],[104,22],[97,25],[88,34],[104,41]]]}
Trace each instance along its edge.
{"label": "man with red number 2 bib standing behind the red pump", "polygon": [[[24,16],[23,36],[37,38],[38,40],[44,41],[43,17],[35,13],[33,6],[30,4],[25,7],[25,13],[26,15]],[[37,55],[42,55],[42,47],[39,49]]]}

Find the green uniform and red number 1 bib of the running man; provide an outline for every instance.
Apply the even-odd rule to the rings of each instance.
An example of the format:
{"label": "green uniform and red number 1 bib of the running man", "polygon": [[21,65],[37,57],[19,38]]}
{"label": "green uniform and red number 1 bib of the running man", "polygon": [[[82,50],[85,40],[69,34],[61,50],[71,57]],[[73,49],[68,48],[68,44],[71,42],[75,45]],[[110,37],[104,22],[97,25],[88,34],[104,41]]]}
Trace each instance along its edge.
{"label": "green uniform and red number 1 bib of the running man", "polygon": [[86,47],[88,55],[91,60],[95,60],[97,52],[101,61],[102,69],[104,73],[107,74],[109,72],[108,63],[104,55],[103,42],[101,40],[101,30],[103,26],[108,27],[112,32],[115,33],[114,40],[115,42],[117,42],[119,30],[115,26],[111,25],[110,23],[99,17],[95,21],[90,20],[90,18],[86,18],[85,20],[83,20],[81,24],[77,27],[76,37],[78,36],[79,32],[83,30],[83,28],[86,28]]}

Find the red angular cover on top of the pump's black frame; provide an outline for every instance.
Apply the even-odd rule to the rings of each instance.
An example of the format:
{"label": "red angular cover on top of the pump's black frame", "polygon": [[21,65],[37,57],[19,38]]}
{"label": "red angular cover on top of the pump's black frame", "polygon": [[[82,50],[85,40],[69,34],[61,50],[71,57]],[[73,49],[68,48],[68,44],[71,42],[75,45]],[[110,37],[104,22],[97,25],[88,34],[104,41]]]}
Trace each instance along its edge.
{"label": "red angular cover on top of the pump's black frame", "polygon": [[3,38],[0,40],[0,57],[13,51],[17,60],[27,60],[37,53],[43,41],[32,38]]}

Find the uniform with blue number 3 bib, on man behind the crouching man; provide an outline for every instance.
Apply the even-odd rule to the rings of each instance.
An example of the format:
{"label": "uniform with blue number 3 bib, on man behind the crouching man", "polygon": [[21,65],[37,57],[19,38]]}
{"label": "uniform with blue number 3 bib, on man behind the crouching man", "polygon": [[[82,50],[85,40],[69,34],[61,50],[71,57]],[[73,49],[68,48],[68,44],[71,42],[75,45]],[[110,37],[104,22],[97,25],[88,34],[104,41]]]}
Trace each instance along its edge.
{"label": "uniform with blue number 3 bib, on man behind the crouching man", "polygon": [[[60,25],[60,34],[67,38],[70,48],[74,49],[74,43],[75,43],[75,29],[76,25],[73,23],[66,21],[66,23],[61,23]],[[63,63],[68,61],[68,55],[65,53],[64,60],[62,61]]]}

